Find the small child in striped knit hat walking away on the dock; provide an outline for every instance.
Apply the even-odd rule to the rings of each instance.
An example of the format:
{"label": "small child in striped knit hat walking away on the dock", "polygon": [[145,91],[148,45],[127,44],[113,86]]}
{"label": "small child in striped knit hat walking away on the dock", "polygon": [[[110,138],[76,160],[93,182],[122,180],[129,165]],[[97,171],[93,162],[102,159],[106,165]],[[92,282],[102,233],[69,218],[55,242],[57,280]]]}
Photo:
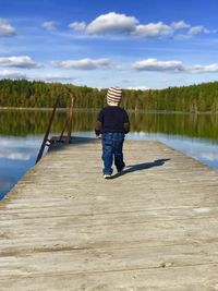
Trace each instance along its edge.
{"label": "small child in striped knit hat walking away on the dock", "polygon": [[125,133],[130,131],[130,121],[126,111],[119,107],[121,99],[121,88],[111,87],[108,89],[108,106],[100,110],[95,126],[96,135],[101,134],[105,179],[111,178],[113,156],[118,172],[121,172],[125,167],[122,147]]}

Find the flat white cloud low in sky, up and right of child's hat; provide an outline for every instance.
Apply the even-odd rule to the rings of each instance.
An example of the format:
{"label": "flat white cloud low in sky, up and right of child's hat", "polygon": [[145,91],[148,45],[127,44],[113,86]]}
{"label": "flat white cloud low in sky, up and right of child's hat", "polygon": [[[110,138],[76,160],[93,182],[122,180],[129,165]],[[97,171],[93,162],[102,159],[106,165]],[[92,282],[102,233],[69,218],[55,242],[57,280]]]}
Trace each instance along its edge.
{"label": "flat white cloud low in sky, up and right of child's hat", "polygon": [[184,71],[184,66],[181,61],[158,61],[157,59],[146,59],[134,62],[133,69],[137,71]]}

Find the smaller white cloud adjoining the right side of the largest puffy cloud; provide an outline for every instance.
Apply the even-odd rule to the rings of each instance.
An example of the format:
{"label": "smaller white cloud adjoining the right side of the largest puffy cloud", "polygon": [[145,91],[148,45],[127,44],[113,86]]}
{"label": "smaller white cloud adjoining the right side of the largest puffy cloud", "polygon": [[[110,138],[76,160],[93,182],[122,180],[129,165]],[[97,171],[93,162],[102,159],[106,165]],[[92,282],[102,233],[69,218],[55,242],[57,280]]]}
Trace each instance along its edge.
{"label": "smaller white cloud adjoining the right side of the largest puffy cloud", "polygon": [[162,22],[158,22],[136,25],[135,31],[132,33],[132,35],[140,37],[159,37],[172,35],[172,33],[173,29],[171,26],[164,24]]}

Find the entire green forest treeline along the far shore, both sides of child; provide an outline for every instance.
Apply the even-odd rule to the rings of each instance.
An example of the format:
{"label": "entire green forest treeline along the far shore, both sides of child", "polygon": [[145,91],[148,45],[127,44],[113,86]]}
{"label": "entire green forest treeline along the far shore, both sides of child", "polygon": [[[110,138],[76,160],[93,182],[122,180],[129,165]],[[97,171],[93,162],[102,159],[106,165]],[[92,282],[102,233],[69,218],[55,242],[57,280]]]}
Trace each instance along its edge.
{"label": "entire green forest treeline along the far shore, both sides of child", "polygon": [[[59,107],[65,108],[69,96],[76,108],[101,108],[107,89],[72,84],[0,81],[0,107],[50,108],[60,95]],[[123,90],[123,107],[132,110],[181,112],[218,112],[218,82],[169,87],[166,89]]]}

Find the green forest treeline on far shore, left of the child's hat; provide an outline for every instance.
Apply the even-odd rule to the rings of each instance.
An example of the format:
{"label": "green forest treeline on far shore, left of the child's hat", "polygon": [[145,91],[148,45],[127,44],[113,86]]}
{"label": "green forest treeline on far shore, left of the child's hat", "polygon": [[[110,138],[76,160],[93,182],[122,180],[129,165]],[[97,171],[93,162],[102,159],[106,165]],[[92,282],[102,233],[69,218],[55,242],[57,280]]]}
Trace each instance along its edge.
{"label": "green forest treeline on far shore, left of the child's hat", "polygon": [[76,108],[100,108],[106,90],[86,86],[63,85],[60,83],[29,82],[26,80],[0,81],[0,107],[51,108],[57,96],[59,107],[65,108],[70,96],[74,97]]}

